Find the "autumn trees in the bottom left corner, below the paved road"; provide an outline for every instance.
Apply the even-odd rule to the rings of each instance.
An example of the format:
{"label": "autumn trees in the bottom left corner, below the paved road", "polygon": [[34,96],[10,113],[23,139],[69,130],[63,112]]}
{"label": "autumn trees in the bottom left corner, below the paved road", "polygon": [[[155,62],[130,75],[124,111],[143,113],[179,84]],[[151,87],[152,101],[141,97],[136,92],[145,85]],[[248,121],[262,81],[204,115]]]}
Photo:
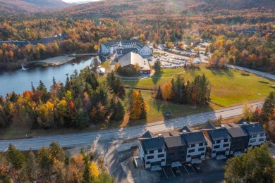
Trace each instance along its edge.
{"label": "autumn trees in the bottom left corner, below the paved road", "polygon": [[[97,163],[96,163],[97,162]],[[104,160],[94,160],[92,153],[73,157],[56,142],[49,148],[25,153],[9,144],[8,150],[0,154],[0,182],[114,182],[104,168]]]}

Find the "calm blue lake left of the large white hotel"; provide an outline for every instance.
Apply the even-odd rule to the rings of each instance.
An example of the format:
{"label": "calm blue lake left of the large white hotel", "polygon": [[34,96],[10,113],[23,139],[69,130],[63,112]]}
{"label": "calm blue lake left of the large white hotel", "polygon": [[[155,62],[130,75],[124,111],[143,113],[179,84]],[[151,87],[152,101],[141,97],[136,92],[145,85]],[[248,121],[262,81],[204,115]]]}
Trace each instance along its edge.
{"label": "calm blue lake left of the large white hotel", "polygon": [[34,67],[27,70],[0,71],[0,95],[6,96],[7,93],[13,91],[16,94],[22,94],[25,90],[31,90],[31,82],[36,88],[39,80],[44,82],[49,91],[53,77],[55,77],[56,82],[61,81],[65,83],[66,74],[71,75],[74,70],[80,72],[80,70],[90,65],[92,61],[93,57],[75,58],[70,63],[63,65],[44,68]]}

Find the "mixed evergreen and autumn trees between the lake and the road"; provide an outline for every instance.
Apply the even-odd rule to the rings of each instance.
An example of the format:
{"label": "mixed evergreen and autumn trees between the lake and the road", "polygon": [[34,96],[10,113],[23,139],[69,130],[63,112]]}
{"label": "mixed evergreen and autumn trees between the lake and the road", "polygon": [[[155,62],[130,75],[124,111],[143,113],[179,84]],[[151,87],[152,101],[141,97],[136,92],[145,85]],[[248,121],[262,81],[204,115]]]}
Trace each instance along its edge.
{"label": "mixed evergreen and autumn trees between the lake and the road", "polygon": [[23,94],[0,97],[0,127],[12,123],[34,128],[77,127],[123,120],[122,99],[125,89],[121,80],[111,72],[99,83],[89,68],[76,70],[65,84],[56,82],[47,90],[42,81]]}

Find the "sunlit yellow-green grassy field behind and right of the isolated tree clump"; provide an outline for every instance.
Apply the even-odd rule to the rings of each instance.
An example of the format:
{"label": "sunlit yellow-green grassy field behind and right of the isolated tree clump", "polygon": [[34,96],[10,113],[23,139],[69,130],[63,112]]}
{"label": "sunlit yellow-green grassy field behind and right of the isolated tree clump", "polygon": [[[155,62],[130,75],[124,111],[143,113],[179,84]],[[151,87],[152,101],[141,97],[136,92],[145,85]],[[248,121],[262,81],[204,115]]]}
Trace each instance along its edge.
{"label": "sunlit yellow-green grassy field behind and right of the isolated tree clump", "polygon": [[154,75],[141,80],[123,80],[123,83],[131,87],[154,88],[164,84],[164,82],[170,82],[177,74],[182,75],[186,82],[203,73],[211,83],[211,99],[217,106],[236,106],[245,100],[259,101],[274,90],[269,86],[275,84],[274,81],[251,73],[248,76],[243,76],[239,70],[207,69],[203,63],[200,64],[200,68],[195,70],[164,69],[161,75]]}

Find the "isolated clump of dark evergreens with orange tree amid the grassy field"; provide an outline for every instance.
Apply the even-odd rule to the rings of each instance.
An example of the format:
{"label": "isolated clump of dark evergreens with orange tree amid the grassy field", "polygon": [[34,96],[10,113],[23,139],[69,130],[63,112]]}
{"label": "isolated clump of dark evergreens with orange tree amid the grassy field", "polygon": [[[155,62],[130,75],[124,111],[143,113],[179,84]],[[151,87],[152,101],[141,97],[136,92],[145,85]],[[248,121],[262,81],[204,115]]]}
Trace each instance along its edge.
{"label": "isolated clump of dark evergreens with orange tree amid the grassy field", "polygon": [[166,82],[155,90],[155,98],[170,100],[180,104],[208,104],[210,101],[210,82],[205,75],[197,75],[192,82],[185,80],[178,75],[176,80]]}

